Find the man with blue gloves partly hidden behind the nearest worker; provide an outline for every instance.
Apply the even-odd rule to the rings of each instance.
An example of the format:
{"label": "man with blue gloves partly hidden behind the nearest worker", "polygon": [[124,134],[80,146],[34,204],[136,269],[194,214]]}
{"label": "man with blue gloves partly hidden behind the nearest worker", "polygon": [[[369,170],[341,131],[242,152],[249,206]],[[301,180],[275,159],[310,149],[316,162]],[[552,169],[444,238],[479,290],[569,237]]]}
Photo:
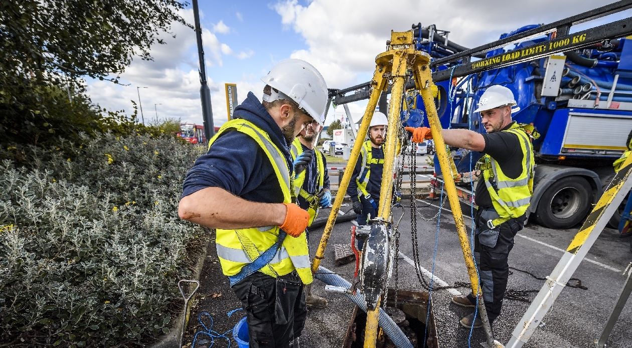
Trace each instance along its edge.
{"label": "man with blue gloves partly hidden behind the nearest worker", "polygon": [[[294,193],[298,206],[307,210],[310,221],[307,225],[307,239],[309,241],[309,227],[318,216],[319,208],[327,208],[331,205],[331,192],[329,191],[329,173],[327,172],[327,160],[325,155],[315,147],[322,125],[316,120],[307,124],[305,129],[292,142],[290,153],[292,159],[312,159],[308,161],[305,171],[294,179]],[[312,284],[305,285],[305,303],[313,308],[326,308],[327,299],[312,294]]]}

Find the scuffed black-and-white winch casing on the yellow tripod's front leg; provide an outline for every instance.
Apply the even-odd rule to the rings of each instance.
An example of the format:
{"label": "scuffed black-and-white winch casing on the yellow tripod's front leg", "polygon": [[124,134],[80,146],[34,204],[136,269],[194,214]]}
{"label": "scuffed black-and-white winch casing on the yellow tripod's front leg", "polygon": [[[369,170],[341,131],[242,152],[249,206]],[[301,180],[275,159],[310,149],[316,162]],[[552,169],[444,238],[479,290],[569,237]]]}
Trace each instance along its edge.
{"label": "scuffed black-and-white winch casing on the yellow tripod's front leg", "polygon": [[[363,231],[360,229],[359,231]],[[386,289],[389,260],[389,231],[386,222],[370,225],[370,236],[362,248],[362,292],[367,308],[374,310]],[[356,236],[357,234],[356,230]]]}

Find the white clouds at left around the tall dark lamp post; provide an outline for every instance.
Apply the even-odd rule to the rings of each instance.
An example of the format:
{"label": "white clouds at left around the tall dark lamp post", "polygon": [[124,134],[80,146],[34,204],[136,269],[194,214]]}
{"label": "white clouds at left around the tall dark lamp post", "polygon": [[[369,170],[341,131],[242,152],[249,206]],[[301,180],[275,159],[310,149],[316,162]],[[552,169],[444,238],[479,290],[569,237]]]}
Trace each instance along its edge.
{"label": "white clouds at left around the tall dark lamp post", "polygon": [[[185,10],[182,15],[187,21],[193,21],[192,10]],[[217,26],[220,24],[223,25],[222,21]],[[145,123],[155,119],[157,114],[161,119],[174,117],[182,121],[202,124],[195,32],[174,23],[173,33],[176,34],[176,38],[164,35],[166,44],[152,47],[153,61],[143,61],[138,57],[133,59],[120,78],[121,83],[130,83],[129,86],[114,85],[109,81],[88,81],[87,94],[92,101],[109,111],[123,110],[130,115],[133,113],[133,104],[130,100],[134,100],[138,105],[137,87],[148,87],[140,88],[139,91],[141,104],[138,106],[142,106]],[[253,54],[250,50],[233,52],[228,45],[220,42],[214,33],[205,28],[202,30],[202,41],[208,67],[222,66],[222,57],[225,56],[244,59]],[[221,126],[227,118],[224,82],[228,81],[214,81],[207,76],[207,82],[211,92],[214,124]],[[235,81],[229,82],[235,83]],[[258,78],[241,76],[236,83],[240,102],[246,98],[250,90],[255,91],[257,97],[261,97],[264,86]],[[141,117],[140,109],[138,117],[139,119]]]}

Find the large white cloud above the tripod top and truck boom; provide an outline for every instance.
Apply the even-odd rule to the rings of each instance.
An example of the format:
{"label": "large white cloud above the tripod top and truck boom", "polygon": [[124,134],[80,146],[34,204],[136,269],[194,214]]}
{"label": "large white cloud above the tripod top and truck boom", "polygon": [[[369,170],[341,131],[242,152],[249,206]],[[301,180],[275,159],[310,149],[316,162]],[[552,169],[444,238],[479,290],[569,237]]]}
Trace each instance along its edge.
{"label": "large white cloud above the tripod top and truck boom", "polygon": [[[411,24],[437,25],[449,30],[449,39],[475,47],[497,40],[501,33],[533,23],[549,23],[588,11],[612,0],[595,3],[583,0],[446,0],[383,1],[313,0],[307,6],[297,0],[272,5],[281,23],[299,33],[308,49],[291,57],[312,63],[330,88],[344,88],[368,80],[375,67],[375,56],[384,51],[391,30],[410,30]],[[545,9],[545,10],[543,10]],[[360,76],[362,78],[360,78]]]}

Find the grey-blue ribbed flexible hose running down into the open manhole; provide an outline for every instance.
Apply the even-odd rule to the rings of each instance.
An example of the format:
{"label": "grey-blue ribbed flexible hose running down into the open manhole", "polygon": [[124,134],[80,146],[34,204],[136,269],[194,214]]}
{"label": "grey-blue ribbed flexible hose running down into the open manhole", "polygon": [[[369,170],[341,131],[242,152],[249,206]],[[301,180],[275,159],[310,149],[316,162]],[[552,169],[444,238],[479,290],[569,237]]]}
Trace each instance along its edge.
{"label": "grey-blue ribbed flexible hose running down into the open manhole", "polygon": [[[339,287],[344,287],[344,289],[351,288],[351,283],[344,280],[339,275],[331,272],[327,268],[320,266],[318,271],[314,274],[314,277],[321,282],[324,282],[327,285],[334,285]],[[351,302],[355,303],[360,309],[367,312],[367,303],[364,299],[364,295],[360,294],[360,292],[356,292],[356,295],[344,294],[344,296],[349,297]],[[380,308],[380,317],[378,323],[382,330],[388,335],[389,339],[395,344],[398,348],[413,348],[413,345],[410,343],[410,340],[406,338],[406,335],[401,331],[401,329],[397,326],[397,324],[391,319],[389,315],[384,312]]]}

